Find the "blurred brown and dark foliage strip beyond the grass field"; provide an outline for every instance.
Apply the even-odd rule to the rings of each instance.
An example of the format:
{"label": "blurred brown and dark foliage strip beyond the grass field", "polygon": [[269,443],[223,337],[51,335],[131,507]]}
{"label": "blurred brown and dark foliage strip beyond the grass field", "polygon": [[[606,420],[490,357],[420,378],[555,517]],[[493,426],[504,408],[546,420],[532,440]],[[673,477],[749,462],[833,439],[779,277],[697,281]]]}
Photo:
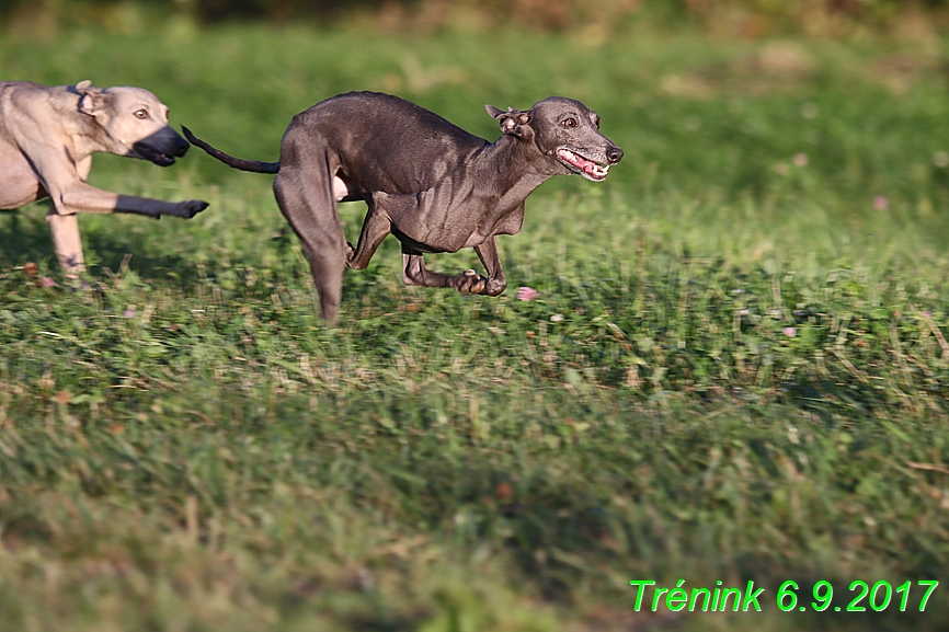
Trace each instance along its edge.
{"label": "blurred brown and dark foliage strip beyond the grass field", "polygon": [[45,32],[69,25],[130,31],[148,18],[175,15],[202,24],[266,21],[327,26],[362,21],[423,31],[508,24],[590,34],[642,24],[759,37],[853,36],[914,21],[938,28],[947,25],[947,10],[946,0],[8,0],[0,15],[14,30]]}

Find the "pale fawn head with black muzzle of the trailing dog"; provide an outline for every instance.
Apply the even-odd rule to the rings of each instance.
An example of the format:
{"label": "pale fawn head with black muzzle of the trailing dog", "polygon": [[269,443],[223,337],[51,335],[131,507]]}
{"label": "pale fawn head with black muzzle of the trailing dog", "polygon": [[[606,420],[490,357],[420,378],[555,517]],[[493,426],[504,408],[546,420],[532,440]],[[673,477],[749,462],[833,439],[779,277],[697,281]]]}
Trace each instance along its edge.
{"label": "pale fawn head with black muzzle of the trailing dog", "polygon": [[79,111],[95,119],[103,145],[113,153],[168,166],[187,151],[187,141],[168,124],[168,106],[148,90],[93,88],[80,81],[76,91]]}

